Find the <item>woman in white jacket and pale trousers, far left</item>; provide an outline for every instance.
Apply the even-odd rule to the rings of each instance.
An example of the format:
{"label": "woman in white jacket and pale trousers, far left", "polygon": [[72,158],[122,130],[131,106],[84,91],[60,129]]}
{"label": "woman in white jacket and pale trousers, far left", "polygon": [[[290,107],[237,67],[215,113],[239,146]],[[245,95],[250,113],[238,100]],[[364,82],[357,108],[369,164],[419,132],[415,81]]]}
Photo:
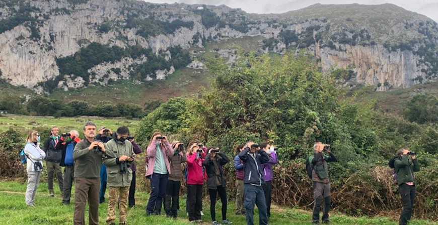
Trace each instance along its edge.
{"label": "woman in white jacket and pale trousers, far left", "polygon": [[26,189],[26,204],[35,206],[35,193],[38,189],[41,171],[43,170],[42,160],[46,154],[39,147],[40,135],[37,131],[30,131],[26,139],[24,153],[27,156],[26,171],[27,171],[27,189]]}

